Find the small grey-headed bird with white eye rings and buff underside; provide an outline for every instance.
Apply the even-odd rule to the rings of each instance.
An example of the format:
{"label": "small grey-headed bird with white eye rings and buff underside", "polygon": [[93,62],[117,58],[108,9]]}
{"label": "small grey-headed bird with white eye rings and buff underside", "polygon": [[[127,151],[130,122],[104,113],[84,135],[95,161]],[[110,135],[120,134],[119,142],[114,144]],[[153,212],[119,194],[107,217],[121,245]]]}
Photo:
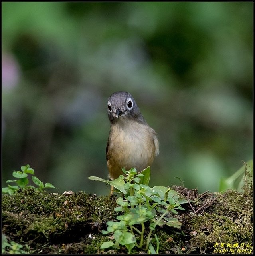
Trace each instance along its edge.
{"label": "small grey-headed bird with white eye rings and buff underside", "polygon": [[[122,168],[141,172],[159,154],[158,136],[142,116],[129,92],[114,92],[108,98],[107,113],[110,131],[106,160],[111,180],[124,175]],[[111,187],[111,194],[113,186]]]}

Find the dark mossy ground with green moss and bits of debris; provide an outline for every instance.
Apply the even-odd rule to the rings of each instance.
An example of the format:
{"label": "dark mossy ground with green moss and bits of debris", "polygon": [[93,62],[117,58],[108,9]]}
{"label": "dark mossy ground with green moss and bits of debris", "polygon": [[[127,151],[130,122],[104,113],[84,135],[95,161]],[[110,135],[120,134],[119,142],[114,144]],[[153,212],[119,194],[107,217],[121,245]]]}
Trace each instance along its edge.
{"label": "dark mossy ground with green moss and bits of debris", "polygon": [[[235,249],[232,253],[242,254],[244,251],[238,249],[247,246],[252,249],[252,188],[243,193],[229,190],[224,194],[204,195],[181,187],[173,189],[186,198],[189,196],[190,204],[183,204],[186,210],[179,213],[181,230],[156,229],[160,254],[231,253],[231,248]],[[26,245],[26,251],[33,254],[126,254],[122,247],[100,249],[103,242],[109,241],[109,236],[101,233],[106,230],[106,222],[119,215],[113,210],[116,199],[115,195],[95,196],[84,192],[67,196],[19,190],[12,196],[2,196],[2,233],[8,241]],[[134,248],[132,253],[146,252]]]}

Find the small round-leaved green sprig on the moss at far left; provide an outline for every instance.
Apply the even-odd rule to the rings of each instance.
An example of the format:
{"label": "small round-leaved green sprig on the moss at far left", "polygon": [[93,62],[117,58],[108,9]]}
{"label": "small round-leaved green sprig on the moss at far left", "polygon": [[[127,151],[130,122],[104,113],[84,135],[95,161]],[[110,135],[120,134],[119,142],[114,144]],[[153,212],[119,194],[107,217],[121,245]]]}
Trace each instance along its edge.
{"label": "small round-leaved green sprig on the moss at far left", "polygon": [[34,182],[34,184],[36,184],[36,186],[38,186],[38,188],[35,188],[37,190],[41,190],[41,189],[45,189],[45,188],[55,188],[51,183],[45,183],[43,184],[43,182],[41,180],[39,180],[36,176],[34,176],[34,169],[30,168],[29,164],[27,164],[26,166],[21,166],[20,168],[22,171],[14,171],[12,173],[12,176],[14,176],[14,178],[17,178],[17,180],[7,180],[6,183],[10,183],[10,182],[14,182],[17,185],[10,185],[8,184],[8,187],[2,188],[2,193],[4,194],[14,194],[15,191],[19,190],[20,188],[35,188],[32,185],[28,185],[29,180],[28,180],[28,174],[32,175],[32,181]]}

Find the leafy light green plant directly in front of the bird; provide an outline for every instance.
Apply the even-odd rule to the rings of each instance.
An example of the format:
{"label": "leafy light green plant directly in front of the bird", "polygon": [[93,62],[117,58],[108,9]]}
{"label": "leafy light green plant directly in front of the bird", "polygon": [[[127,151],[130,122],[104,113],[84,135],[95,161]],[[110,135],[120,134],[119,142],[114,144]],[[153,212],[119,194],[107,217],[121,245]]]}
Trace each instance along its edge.
{"label": "leafy light green plant directly in front of the bird", "polygon": [[[116,203],[119,206],[114,209],[122,214],[117,216],[116,221],[108,221],[107,231],[102,231],[103,234],[113,233],[115,242],[104,242],[101,249],[119,248],[122,245],[131,253],[132,248],[137,246],[149,253],[158,253],[159,242],[156,234],[153,238],[153,231],[156,226],[163,225],[180,229],[181,223],[173,215],[178,214],[177,209],[184,210],[180,204],[187,201],[181,199],[182,196],[171,188],[150,188],[150,167],[140,173],[137,173],[135,168],[122,170],[126,176],[120,175],[112,181],[89,177],[91,180],[109,183],[124,194],[124,198],[117,198]],[[156,250],[152,242],[156,244]]]}

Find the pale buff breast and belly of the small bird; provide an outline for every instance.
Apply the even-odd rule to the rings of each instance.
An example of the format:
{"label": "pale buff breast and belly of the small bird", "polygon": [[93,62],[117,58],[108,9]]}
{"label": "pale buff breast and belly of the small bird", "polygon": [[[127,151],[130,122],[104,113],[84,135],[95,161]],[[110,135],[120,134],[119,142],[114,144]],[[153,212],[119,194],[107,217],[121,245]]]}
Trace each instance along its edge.
{"label": "pale buff breast and belly of the small bird", "polygon": [[122,167],[141,171],[152,164],[155,154],[158,154],[158,139],[148,124],[130,121],[111,126],[107,162],[110,173]]}

